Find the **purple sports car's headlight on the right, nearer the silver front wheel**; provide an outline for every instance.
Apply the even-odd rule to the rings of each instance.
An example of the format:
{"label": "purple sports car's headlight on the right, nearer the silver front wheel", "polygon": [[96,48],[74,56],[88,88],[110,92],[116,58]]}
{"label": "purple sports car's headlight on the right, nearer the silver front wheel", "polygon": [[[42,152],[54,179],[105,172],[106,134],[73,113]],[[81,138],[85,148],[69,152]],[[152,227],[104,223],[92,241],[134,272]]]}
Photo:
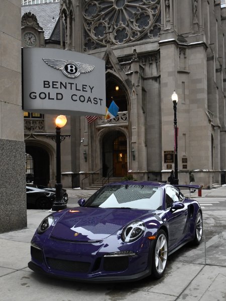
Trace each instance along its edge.
{"label": "purple sports car's headlight on the right, nearer the silver front wheel", "polygon": [[142,221],[134,221],[127,225],[122,232],[122,240],[132,242],[137,240],[145,231],[145,223]]}

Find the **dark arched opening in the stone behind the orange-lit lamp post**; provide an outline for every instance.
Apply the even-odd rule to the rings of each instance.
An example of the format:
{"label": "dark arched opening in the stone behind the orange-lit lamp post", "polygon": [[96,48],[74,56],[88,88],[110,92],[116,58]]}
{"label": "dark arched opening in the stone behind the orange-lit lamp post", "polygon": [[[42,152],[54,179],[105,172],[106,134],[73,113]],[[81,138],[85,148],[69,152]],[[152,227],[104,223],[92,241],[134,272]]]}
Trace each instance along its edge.
{"label": "dark arched opening in the stone behind the orange-lit lamp post", "polygon": [[26,146],[26,154],[33,159],[34,184],[47,186],[50,180],[50,160],[49,154],[39,146]]}

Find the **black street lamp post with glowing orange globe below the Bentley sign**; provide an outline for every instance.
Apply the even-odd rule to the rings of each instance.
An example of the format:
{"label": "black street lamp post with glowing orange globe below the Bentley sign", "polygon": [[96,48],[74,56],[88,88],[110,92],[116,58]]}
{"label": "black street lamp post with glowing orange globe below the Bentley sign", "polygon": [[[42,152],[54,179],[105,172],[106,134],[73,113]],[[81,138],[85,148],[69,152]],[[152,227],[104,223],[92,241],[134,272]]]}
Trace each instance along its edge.
{"label": "black street lamp post with glowing orange globe below the Bentley sign", "polygon": [[60,130],[67,122],[67,118],[64,115],[59,115],[56,118],[56,198],[52,205],[52,211],[59,211],[67,208],[66,203],[62,199],[61,189],[61,157],[60,157],[60,142],[61,142],[61,135]]}

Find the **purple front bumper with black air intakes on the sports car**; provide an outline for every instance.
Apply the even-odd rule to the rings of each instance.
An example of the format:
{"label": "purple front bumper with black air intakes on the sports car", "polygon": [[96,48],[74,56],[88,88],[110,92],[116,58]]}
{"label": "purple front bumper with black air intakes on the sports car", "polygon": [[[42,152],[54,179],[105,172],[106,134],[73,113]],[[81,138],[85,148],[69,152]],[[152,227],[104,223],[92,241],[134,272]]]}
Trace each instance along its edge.
{"label": "purple front bumper with black air intakes on the sports car", "polygon": [[[38,243],[38,244],[37,244]],[[152,244],[146,238],[111,250],[109,244],[70,243],[48,239],[31,246],[29,268],[37,273],[84,282],[136,281],[151,274]]]}

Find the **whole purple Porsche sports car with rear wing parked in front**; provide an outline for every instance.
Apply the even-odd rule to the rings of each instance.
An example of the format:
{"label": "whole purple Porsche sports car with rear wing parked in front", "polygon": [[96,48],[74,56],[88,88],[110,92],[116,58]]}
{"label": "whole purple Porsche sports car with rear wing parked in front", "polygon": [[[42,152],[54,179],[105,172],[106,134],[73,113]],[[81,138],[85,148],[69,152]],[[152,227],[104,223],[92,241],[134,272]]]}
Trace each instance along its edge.
{"label": "whole purple Porsche sports car with rear wing parked in front", "polygon": [[198,202],[168,184],[112,183],[78,204],[39,225],[28,264],[35,272],[95,282],[160,278],[168,255],[202,238]]}

